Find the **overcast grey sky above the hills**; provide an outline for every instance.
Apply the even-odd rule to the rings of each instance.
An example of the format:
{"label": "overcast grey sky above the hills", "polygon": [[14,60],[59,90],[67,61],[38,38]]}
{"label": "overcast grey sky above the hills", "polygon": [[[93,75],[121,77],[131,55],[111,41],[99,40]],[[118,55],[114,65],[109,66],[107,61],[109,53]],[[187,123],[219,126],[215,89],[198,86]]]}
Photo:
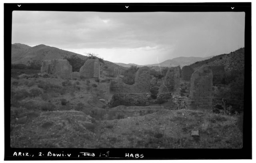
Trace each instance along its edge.
{"label": "overcast grey sky above the hills", "polygon": [[45,44],[111,62],[157,64],[244,47],[244,12],[13,11],[12,44]]}

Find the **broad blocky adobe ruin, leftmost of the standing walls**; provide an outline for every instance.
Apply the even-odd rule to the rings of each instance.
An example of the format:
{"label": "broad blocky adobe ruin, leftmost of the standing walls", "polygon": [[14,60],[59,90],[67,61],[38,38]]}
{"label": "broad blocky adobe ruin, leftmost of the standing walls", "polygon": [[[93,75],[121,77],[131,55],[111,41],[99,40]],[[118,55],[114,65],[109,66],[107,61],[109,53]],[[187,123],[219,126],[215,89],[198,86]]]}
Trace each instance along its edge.
{"label": "broad blocky adobe ruin, leftmost of the standing walls", "polygon": [[42,62],[41,73],[47,73],[57,76],[58,78],[72,78],[72,66],[68,60],[44,60]]}

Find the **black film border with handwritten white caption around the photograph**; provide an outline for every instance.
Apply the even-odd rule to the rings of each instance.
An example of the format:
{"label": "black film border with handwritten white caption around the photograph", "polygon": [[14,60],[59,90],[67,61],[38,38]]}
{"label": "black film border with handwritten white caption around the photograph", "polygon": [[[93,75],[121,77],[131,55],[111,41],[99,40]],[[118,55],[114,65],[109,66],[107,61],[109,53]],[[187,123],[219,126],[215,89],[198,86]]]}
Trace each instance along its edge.
{"label": "black film border with handwritten white caption around the photograph", "polygon": [[[21,7],[18,7],[21,5]],[[125,6],[129,6],[126,8]],[[232,9],[231,7],[234,7]],[[245,12],[244,129],[242,149],[79,149],[10,147],[10,74],[12,11],[91,11],[91,12]],[[4,4],[4,160],[108,160],[108,159],[252,159],[252,28],[251,2],[218,3],[5,3]],[[72,153],[71,157],[46,157],[51,153]],[[108,157],[99,157],[107,153]],[[22,152],[25,156],[13,156]],[[44,156],[38,156],[38,153]],[[95,157],[77,157],[80,152]],[[29,153],[26,156],[26,153]],[[132,153],[134,157],[125,157]],[[143,158],[135,158],[143,154]],[[32,155],[34,155],[32,157]]]}

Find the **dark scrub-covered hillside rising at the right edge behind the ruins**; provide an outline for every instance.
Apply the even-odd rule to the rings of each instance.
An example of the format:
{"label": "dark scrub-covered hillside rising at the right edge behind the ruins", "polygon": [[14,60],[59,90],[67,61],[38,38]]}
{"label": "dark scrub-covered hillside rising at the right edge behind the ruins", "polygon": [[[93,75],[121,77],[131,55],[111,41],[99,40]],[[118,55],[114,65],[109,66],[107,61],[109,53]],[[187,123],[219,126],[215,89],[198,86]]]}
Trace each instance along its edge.
{"label": "dark scrub-covered hillside rising at the right edge behind the ruins", "polygon": [[224,65],[225,71],[243,70],[244,69],[244,48],[240,48],[229,54],[221,54],[214,56],[208,60],[196,62],[190,66],[197,70],[203,66],[219,66]]}

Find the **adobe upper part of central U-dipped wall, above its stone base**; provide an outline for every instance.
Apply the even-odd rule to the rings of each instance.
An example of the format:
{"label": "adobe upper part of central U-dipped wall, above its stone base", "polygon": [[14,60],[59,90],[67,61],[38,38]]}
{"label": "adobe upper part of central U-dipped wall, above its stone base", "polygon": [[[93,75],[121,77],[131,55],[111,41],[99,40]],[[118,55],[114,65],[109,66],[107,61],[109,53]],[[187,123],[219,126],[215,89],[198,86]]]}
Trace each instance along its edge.
{"label": "adobe upper part of central U-dipped wall, above its stone base", "polygon": [[128,85],[121,80],[110,81],[110,91],[115,93],[148,93],[150,91],[150,69],[141,67],[135,74],[135,83]]}

